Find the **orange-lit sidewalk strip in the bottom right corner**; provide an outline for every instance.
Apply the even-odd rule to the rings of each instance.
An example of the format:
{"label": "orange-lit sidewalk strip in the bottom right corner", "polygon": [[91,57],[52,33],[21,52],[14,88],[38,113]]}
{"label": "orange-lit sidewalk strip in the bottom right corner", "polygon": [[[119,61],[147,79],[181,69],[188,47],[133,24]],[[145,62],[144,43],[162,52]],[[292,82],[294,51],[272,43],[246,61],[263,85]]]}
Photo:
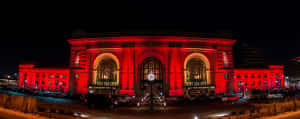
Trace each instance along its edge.
{"label": "orange-lit sidewalk strip in the bottom right corner", "polygon": [[296,112],[285,112],[276,116],[264,117],[261,119],[300,119],[300,110]]}

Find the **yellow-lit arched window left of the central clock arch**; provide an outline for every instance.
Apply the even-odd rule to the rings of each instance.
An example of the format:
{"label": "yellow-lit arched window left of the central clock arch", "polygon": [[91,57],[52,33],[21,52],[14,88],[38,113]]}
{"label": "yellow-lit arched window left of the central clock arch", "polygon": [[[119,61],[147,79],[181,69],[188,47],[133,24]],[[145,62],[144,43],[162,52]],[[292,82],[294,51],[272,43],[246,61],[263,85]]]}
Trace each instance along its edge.
{"label": "yellow-lit arched window left of the central clock arch", "polygon": [[117,85],[117,64],[111,58],[102,59],[97,66],[96,85],[116,86]]}

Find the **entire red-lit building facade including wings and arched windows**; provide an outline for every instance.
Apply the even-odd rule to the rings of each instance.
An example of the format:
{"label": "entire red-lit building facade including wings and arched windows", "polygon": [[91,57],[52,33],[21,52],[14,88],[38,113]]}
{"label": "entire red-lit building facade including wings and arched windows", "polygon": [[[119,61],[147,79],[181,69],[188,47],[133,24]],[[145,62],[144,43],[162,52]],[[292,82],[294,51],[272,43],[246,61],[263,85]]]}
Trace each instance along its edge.
{"label": "entire red-lit building facade including wings and arched windows", "polygon": [[[47,69],[20,64],[19,87],[51,91],[63,87],[64,92],[79,94],[141,95],[147,89],[149,73],[155,74],[156,87],[169,96],[238,92],[240,81],[248,82],[249,89],[284,87],[282,66],[234,69],[232,45],[235,41],[232,39],[122,36],[68,41],[70,68]],[[245,74],[248,78],[241,78]],[[252,74],[263,76],[252,78]],[[276,83],[278,79],[280,85]]]}

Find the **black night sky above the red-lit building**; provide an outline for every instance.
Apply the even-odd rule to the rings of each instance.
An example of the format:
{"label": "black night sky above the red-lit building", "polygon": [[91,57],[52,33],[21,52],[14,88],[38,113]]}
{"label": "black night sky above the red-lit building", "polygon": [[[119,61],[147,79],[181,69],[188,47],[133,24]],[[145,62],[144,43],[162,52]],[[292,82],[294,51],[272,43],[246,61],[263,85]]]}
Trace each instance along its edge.
{"label": "black night sky above the red-lit building", "polygon": [[230,30],[234,40],[260,48],[268,61],[300,56],[300,19],[293,3],[111,1],[77,5],[7,3],[2,11],[0,71],[16,71],[22,59],[69,63],[73,31]]}

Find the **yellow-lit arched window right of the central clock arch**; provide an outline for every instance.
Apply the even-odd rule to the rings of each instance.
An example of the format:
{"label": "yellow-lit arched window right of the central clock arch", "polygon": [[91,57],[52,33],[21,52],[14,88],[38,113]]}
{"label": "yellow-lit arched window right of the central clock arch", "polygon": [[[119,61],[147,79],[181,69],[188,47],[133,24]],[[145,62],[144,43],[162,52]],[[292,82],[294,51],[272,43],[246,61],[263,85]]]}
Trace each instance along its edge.
{"label": "yellow-lit arched window right of the central clock arch", "polygon": [[186,66],[187,86],[207,85],[206,65],[200,58],[192,58]]}

